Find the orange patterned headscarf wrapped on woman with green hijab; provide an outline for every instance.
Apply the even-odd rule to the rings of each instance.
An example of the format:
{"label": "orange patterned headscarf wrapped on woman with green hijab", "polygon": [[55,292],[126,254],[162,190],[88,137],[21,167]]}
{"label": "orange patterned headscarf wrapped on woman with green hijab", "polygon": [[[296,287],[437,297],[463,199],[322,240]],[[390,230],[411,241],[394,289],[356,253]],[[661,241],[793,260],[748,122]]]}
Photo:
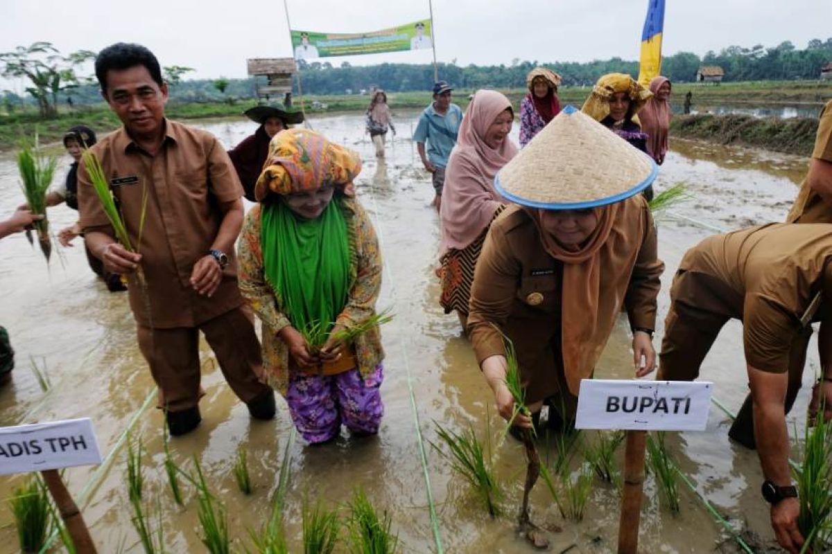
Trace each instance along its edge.
{"label": "orange patterned headscarf wrapped on woman with green hijab", "polygon": [[310,192],[330,185],[354,196],[353,179],[360,171],[359,154],[324,135],[308,129],[280,131],[270,142],[255,199],[260,202],[269,194]]}

